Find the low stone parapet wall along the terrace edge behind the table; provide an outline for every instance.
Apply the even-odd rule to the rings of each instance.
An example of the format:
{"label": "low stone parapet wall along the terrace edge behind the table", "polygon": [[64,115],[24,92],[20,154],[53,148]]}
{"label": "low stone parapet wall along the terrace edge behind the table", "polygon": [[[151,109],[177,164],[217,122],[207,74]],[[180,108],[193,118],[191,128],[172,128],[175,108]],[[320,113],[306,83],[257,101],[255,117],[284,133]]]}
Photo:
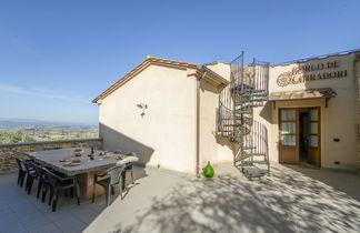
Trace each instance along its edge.
{"label": "low stone parapet wall along the terrace edge behind the table", "polygon": [[0,144],[0,174],[18,171],[13,156],[23,156],[26,152],[54,150],[62,148],[102,148],[102,139],[77,139],[47,142],[24,142]]}

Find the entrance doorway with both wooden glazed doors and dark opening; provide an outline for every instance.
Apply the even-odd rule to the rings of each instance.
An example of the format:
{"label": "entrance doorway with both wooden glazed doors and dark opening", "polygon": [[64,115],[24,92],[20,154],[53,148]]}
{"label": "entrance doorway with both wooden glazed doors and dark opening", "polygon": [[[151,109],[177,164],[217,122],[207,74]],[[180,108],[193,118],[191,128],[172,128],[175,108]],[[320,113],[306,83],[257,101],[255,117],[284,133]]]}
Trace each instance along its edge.
{"label": "entrance doorway with both wooden glazed doors and dark opening", "polygon": [[279,109],[279,162],[321,166],[320,108]]}

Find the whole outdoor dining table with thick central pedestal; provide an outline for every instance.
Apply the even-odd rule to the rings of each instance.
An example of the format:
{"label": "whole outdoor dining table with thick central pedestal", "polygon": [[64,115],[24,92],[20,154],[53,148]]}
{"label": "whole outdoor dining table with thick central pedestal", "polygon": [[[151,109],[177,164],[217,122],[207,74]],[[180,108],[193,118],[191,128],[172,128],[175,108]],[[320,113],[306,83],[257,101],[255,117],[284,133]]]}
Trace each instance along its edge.
{"label": "whole outdoor dining table with thick central pedestal", "polygon": [[[82,155],[76,156],[74,151],[82,149]],[[137,156],[126,156],[119,160],[120,154],[114,154],[107,152],[106,155],[100,155],[104,153],[103,151],[94,151],[94,159],[91,160],[88,154],[90,154],[90,149],[83,148],[71,148],[61,150],[49,150],[49,151],[37,151],[24,153],[33,161],[53,169],[67,176],[77,176],[80,185],[80,197],[89,200],[92,197],[92,186],[93,186],[93,175],[103,173],[111,166],[126,165],[130,162],[136,162],[139,159]],[[73,158],[74,160],[80,160],[79,165],[70,166],[66,165],[68,162],[61,162],[61,160]],[[97,195],[103,194],[103,189],[97,186]]]}

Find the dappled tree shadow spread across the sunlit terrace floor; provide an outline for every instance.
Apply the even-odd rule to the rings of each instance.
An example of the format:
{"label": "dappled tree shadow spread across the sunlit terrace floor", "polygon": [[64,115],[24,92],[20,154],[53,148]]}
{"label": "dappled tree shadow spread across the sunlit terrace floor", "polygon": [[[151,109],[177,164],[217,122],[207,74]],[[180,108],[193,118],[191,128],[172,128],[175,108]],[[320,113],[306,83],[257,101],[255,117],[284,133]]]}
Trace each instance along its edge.
{"label": "dappled tree shadow spread across the sunlit terrace floor", "polygon": [[[360,203],[284,166],[247,181],[233,168],[213,180],[188,180],[153,196],[136,223],[117,232],[357,232]],[[219,171],[219,170],[218,170]],[[230,172],[229,172],[230,171]],[[332,174],[336,175],[336,174]],[[349,175],[349,174],[348,174]],[[356,175],[354,175],[356,176]],[[352,183],[356,185],[359,182]]]}

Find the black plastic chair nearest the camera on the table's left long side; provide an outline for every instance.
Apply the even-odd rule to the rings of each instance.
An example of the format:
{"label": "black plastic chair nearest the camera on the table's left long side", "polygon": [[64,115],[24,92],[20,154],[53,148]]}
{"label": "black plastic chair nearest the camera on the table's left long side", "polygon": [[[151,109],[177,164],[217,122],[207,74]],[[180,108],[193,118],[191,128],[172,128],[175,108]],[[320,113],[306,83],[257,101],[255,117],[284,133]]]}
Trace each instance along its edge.
{"label": "black plastic chair nearest the camera on the table's left long side", "polygon": [[47,188],[50,188],[49,204],[52,201],[52,212],[57,210],[60,191],[66,191],[68,189],[73,189],[76,191],[77,202],[78,205],[80,205],[80,188],[76,176],[62,178],[48,169],[42,168],[42,170],[46,172],[47,179],[49,179],[49,184],[43,189],[42,200],[44,201]]}

